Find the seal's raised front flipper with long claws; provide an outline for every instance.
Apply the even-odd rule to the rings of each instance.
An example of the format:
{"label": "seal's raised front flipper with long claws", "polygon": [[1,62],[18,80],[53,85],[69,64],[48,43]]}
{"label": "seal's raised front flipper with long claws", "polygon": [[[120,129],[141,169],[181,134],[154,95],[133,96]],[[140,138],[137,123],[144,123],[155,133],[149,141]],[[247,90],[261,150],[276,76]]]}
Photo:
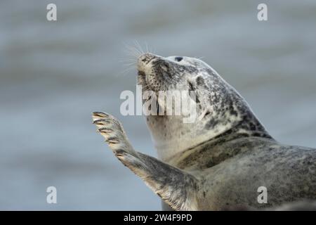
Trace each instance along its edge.
{"label": "seal's raised front flipper with long claws", "polygon": [[112,115],[93,113],[93,123],[114,155],[173,210],[197,210],[198,183],[192,174],[133,150],[121,123]]}

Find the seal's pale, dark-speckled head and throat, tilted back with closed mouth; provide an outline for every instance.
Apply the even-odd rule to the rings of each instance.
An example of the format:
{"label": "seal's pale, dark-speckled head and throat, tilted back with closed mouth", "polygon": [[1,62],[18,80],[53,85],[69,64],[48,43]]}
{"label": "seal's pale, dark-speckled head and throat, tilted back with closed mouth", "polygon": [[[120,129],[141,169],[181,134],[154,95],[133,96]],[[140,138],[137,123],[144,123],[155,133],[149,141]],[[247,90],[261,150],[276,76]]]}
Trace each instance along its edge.
{"label": "seal's pale, dark-speckled head and throat, tilted back with closed mouth", "polygon": [[[143,91],[194,91],[197,120],[183,123],[183,115],[147,115],[147,125],[159,158],[168,161],[187,148],[219,136],[272,137],[244,98],[197,58],[162,57],[145,53],[138,58],[138,84]],[[158,103],[159,105],[159,103]]]}

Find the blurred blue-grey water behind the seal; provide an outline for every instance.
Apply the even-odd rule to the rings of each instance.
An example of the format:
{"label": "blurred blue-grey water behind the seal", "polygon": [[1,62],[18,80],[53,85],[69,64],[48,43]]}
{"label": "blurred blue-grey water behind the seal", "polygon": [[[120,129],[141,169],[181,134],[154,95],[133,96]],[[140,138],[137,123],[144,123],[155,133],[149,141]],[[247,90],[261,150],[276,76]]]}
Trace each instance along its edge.
{"label": "blurred blue-grey water behind the seal", "polygon": [[119,113],[121,91],[135,90],[136,70],[121,62],[135,40],[203,56],[275,139],[316,147],[316,1],[1,1],[0,210],[160,209],[91,124],[91,112],[112,113],[156,155],[143,117]]}

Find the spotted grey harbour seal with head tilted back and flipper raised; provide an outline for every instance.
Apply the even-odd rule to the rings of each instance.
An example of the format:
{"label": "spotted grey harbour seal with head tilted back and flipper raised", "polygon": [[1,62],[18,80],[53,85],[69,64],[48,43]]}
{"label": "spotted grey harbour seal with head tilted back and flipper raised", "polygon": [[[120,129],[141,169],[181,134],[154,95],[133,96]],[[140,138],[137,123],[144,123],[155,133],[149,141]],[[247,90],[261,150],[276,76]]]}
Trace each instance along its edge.
{"label": "spotted grey harbour seal with head tilted back and flipper raised", "polygon": [[[137,62],[143,89],[187,89],[197,96],[194,124],[181,116],[146,117],[159,159],[137,152],[121,123],[93,113],[114,155],[173,210],[275,207],[316,198],[316,150],[270,136],[238,92],[197,58],[144,53]],[[199,93],[204,89],[207,92]],[[258,203],[258,187],[267,203]]]}

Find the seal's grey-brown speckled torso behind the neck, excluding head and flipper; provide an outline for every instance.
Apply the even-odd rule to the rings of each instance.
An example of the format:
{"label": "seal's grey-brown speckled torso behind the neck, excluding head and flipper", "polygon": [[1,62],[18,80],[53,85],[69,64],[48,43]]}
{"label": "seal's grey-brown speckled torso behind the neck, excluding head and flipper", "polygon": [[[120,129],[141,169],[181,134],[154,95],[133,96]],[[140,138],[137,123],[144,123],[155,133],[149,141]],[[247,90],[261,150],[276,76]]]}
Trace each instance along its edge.
{"label": "seal's grey-brown speckled torso behind the neck, excluding head and flipper", "polygon": [[[199,209],[223,210],[233,205],[263,208],[315,199],[315,162],[315,149],[245,137],[206,143],[174,165],[202,182]],[[261,186],[268,191],[267,203],[258,203]]]}

